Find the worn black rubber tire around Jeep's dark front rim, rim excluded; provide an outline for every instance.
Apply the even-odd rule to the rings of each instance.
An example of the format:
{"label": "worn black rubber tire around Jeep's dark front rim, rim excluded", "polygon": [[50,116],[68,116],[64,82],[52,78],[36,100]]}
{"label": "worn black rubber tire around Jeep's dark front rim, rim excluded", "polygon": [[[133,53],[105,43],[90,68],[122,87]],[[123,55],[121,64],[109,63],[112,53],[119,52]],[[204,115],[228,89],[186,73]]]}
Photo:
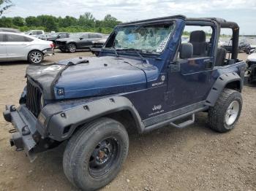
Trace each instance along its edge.
{"label": "worn black rubber tire around Jeep's dark front rim, rim excluded", "polygon": [[[109,122],[108,125],[99,125],[86,130],[86,139],[80,139],[78,147],[72,152],[72,163],[76,167],[72,168],[74,183],[83,190],[95,190],[104,187],[113,180],[121,170],[121,164],[127,157],[129,149],[129,139],[124,127],[118,122]],[[119,157],[110,167],[110,171],[100,178],[95,178],[89,173],[89,159],[94,148],[100,141],[114,137],[119,145]]]}

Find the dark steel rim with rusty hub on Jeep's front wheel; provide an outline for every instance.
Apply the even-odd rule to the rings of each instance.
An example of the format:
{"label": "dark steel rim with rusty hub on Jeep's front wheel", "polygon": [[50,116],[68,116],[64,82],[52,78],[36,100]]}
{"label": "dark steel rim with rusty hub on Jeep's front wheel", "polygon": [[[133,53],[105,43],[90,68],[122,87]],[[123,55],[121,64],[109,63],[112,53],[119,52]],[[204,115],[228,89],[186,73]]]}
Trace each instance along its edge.
{"label": "dark steel rim with rusty hub on Jeep's front wheel", "polygon": [[97,144],[89,159],[89,174],[99,178],[107,174],[118,160],[120,148],[115,138],[104,139]]}

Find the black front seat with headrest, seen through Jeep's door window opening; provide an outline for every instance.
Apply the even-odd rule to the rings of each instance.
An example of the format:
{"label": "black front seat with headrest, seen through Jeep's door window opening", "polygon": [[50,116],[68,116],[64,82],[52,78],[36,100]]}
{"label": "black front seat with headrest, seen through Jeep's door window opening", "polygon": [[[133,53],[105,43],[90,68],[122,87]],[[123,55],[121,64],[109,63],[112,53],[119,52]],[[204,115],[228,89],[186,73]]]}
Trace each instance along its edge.
{"label": "black front seat with headrest, seen through Jeep's door window opening", "polygon": [[192,31],[189,37],[189,42],[193,44],[195,57],[207,55],[206,33],[204,31]]}

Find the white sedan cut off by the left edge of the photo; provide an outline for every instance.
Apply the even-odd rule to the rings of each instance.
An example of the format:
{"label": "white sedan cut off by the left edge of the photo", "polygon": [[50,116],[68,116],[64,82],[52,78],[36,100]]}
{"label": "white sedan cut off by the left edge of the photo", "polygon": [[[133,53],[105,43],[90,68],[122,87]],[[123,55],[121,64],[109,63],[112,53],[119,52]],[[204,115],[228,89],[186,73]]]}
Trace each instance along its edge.
{"label": "white sedan cut off by the left edge of the photo", "polygon": [[45,56],[53,55],[53,42],[25,34],[0,32],[0,62],[29,61],[41,63]]}

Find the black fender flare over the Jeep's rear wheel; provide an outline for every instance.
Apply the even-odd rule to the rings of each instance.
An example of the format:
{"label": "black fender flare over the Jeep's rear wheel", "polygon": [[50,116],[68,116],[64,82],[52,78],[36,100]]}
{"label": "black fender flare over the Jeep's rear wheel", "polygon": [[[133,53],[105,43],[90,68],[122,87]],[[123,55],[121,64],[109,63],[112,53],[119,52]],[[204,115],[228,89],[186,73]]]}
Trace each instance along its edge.
{"label": "black fender flare over the Jeep's rear wheel", "polygon": [[214,106],[219,95],[222,93],[222,90],[230,83],[230,82],[239,82],[239,91],[241,92],[243,88],[243,80],[236,72],[230,72],[227,74],[220,75],[214,85],[211,87],[210,92],[206,98],[206,105]]}

